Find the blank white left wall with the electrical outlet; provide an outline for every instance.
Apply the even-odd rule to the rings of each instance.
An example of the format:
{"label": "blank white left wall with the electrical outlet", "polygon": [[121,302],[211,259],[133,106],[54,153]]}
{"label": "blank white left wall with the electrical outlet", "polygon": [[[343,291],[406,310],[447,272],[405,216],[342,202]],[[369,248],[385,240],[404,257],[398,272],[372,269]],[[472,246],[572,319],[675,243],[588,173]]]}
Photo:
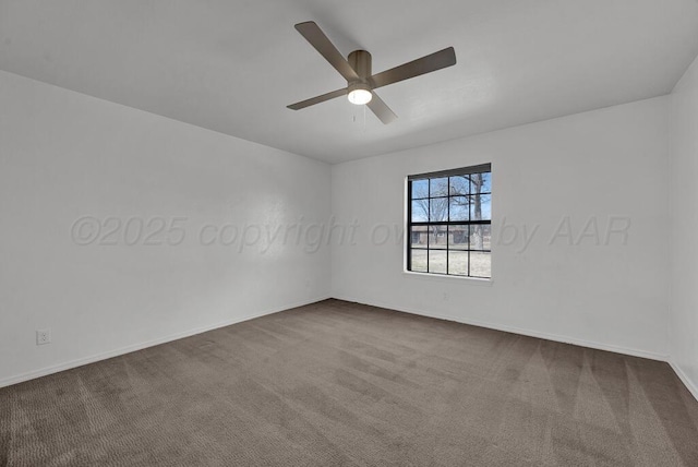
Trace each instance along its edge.
{"label": "blank white left wall with the electrical outlet", "polygon": [[[322,163],[0,72],[0,385],[326,298],[328,248],[293,225],[329,217],[329,181]],[[79,246],[82,216],[135,217],[130,242],[137,219],[181,217],[185,238],[130,247],[122,224],[118,244]],[[289,235],[201,244],[226,224]]]}

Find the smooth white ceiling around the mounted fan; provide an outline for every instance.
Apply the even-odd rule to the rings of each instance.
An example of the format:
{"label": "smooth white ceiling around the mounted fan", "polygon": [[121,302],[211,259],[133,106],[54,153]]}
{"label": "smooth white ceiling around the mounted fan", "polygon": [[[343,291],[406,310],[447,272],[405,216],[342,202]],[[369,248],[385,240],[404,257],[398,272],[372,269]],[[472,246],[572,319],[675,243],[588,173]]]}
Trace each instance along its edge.
{"label": "smooth white ceiling around the mounted fan", "polygon": [[[374,72],[454,46],[455,67],[378,91],[381,123],[293,28]],[[0,69],[336,163],[671,92],[696,0],[0,0]],[[354,121],[356,119],[356,121]]]}

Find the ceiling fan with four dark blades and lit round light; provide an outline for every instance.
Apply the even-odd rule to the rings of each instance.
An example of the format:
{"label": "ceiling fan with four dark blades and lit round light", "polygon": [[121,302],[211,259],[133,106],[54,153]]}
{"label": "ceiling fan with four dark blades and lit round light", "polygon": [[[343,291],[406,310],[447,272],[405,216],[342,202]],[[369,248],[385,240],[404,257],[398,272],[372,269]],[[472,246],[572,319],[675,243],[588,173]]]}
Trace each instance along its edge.
{"label": "ceiling fan with four dark blades and lit round light", "polygon": [[371,53],[368,51],[354,50],[349,53],[348,60],[345,60],[315,22],[299,23],[296,29],[347,80],[347,87],[287,106],[292,110],[347,95],[351,104],[365,104],[383,123],[388,124],[397,116],[375,94],[375,89],[456,64],[456,52],[453,47],[447,47],[399,67],[371,74]]}

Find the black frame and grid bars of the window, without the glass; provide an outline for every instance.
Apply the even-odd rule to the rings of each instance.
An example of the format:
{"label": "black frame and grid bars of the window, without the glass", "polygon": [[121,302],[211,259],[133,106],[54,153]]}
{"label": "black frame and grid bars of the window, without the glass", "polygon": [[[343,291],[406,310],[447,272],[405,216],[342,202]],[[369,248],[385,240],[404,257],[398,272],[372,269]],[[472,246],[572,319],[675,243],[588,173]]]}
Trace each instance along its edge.
{"label": "black frame and grid bars of the window, without the glass", "polygon": [[[489,173],[490,175],[490,190],[486,192],[479,192],[479,193],[472,193],[471,189],[468,189],[468,193],[464,194],[464,193],[457,193],[454,194],[452,193],[452,189],[450,189],[450,179],[448,179],[448,187],[447,187],[447,194],[433,194],[431,191],[431,180],[433,179],[440,179],[440,178],[446,178],[446,177],[470,177],[472,175],[476,173]],[[429,184],[428,184],[428,193],[426,193],[426,197],[412,197],[412,182],[418,181],[418,180],[428,180]],[[489,195],[490,196],[490,218],[489,219],[479,219],[479,220],[473,220],[470,218],[471,216],[471,204],[470,201],[468,202],[468,219],[467,220],[452,220],[450,219],[450,208],[452,208],[452,199],[453,197],[458,197],[458,196],[467,196],[470,199],[470,196],[474,196],[474,195]],[[430,216],[431,216],[431,200],[433,199],[445,199],[446,200],[446,205],[447,205],[447,214],[446,214],[446,220],[431,220]],[[465,278],[465,279],[476,279],[476,280],[485,280],[485,282],[491,282],[492,280],[492,164],[480,164],[480,165],[476,165],[476,166],[469,166],[469,167],[461,167],[461,168],[456,168],[456,169],[449,169],[449,170],[441,170],[441,171],[433,171],[433,172],[425,172],[425,173],[418,173],[418,175],[411,175],[408,176],[406,178],[406,236],[405,236],[405,272],[409,273],[409,274],[419,274],[419,275],[425,275],[425,276],[430,276],[430,277],[456,277],[456,278]],[[413,201],[419,201],[419,200],[429,200],[429,207],[428,209],[428,217],[425,221],[413,221],[412,220],[412,204]],[[476,249],[473,250],[471,248],[470,244],[470,228],[471,226],[477,226],[477,225],[482,225],[482,226],[489,226],[490,228],[490,248],[485,249],[483,246],[483,249]],[[412,228],[413,227],[418,227],[418,226],[424,226],[426,227],[426,247],[418,247],[418,248],[413,248],[412,244],[412,237],[413,237],[413,231]],[[431,227],[434,226],[438,226],[438,227],[443,227],[445,228],[445,235],[446,235],[446,244],[443,248],[437,248],[437,249],[432,249],[430,248],[430,241],[429,241],[429,237],[431,236],[431,234],[429,232],[429,229]],[[452,249],[449,248],[449,227],[450,226],[468,226],[468,246],[467,246],[467,250],[462,250],[462,249]],[[436,234],[438,237],[438,232]],[[412,271],[412,251],[413,250],[422,250],[426,252],[426,271]],[[432,272],[429,271],[429,261],[430,261],[430,252],[433,250],[438,250],[438,251],[444,251],[446,253],[446,271],[445,272]],[[449,262],[449,252],[453,251],[464,251],[468,253],[468,271],[467,274],[454,274],[449,271],[448,268],[448,262]],[[484,252],[488,253],[490,255],[490,275],[489,276],[477,276],[477,275],[472,275],[471,273],[471,253],[472,252]]]}

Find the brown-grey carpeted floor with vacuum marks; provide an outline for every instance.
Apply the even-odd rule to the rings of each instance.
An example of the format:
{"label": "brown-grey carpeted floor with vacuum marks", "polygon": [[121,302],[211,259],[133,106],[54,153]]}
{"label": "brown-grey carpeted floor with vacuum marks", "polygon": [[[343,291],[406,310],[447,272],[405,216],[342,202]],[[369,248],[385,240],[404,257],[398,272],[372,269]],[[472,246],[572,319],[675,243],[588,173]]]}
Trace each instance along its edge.
{"label": "brown-grey carpeted floor with vacuum marks", "polygon": [[698,466],[666,363],[327,300],[0,390],[2,466]]}

